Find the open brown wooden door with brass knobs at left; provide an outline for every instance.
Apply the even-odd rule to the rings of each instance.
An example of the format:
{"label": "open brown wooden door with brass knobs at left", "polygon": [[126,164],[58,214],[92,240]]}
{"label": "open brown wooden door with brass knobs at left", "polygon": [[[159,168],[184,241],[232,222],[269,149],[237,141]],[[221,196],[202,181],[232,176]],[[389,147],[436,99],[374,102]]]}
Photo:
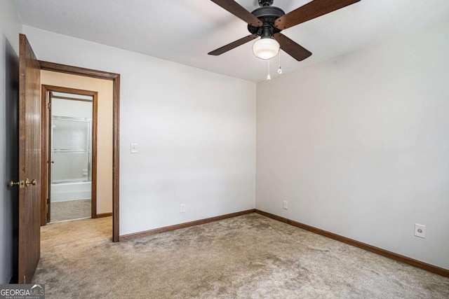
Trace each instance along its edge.
{"label": "open brown wooden door with brass knobs at left", "polygon": [[19,69],[19,179],[23,183],[19,186],[18,280],[29,284],[41,253],[41,70],[23,34]]}

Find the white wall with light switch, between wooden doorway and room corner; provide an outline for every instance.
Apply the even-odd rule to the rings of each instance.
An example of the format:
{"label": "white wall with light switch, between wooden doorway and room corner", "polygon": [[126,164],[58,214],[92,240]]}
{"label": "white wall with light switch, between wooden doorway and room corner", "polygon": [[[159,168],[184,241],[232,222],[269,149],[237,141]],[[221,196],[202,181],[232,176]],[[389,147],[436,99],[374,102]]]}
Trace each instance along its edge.
{"label": "white wall with light switch, between wooden doorway and room corner", "polygon": [[120,235],[255,207],[255,83],[24,32],[39,60],[121,74]]}

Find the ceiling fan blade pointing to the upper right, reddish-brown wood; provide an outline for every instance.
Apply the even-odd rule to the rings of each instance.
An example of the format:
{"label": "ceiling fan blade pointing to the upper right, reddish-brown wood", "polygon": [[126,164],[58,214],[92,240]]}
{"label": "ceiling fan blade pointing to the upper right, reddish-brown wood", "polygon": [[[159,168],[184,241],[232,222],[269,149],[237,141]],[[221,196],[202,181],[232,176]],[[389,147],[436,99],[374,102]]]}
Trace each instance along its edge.
{"label": "ceiling fan blade pointing to the upper right, reddish-brown wood", "polygon": [[314,0],[278,18],[274,22],[274,26],[281,30],[287,29],[358,1],[360,0]]}

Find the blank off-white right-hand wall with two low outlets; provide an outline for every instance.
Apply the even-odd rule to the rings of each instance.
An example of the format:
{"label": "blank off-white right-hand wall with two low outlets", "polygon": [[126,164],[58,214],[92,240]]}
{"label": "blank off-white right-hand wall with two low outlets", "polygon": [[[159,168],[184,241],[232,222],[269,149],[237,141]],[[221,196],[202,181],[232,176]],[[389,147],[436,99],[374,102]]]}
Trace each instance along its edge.
{"label": "blank off-white right-hand wall with two low outlets", "polygon": [[446,22],[257,84],[257,209],[449,269],[448,53]]}

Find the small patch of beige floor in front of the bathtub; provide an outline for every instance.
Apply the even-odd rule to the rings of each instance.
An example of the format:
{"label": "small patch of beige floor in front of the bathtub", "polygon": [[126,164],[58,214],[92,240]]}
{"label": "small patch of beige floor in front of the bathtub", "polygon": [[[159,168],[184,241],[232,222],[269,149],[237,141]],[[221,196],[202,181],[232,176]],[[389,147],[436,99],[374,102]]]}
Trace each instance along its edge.
{"label": "small patch of beige floor in front of the bathtub", "polygon": [[68,200],[67,202],[52,202],[50,221],[65,221],[92,216],[91,200]]}

